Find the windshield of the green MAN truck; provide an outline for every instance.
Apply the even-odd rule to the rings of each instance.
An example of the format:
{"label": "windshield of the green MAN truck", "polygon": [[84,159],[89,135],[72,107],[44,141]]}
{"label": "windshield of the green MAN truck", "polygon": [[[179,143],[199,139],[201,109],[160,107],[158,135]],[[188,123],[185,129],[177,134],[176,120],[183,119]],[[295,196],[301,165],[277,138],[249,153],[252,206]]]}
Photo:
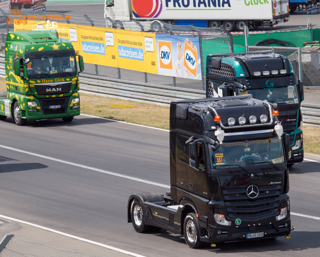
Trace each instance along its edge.
{"label": "windshield of the green MAN truck", "polygon": [[28,78],[75,76],[75,57],[48,56],[30,58],[26,64]]}

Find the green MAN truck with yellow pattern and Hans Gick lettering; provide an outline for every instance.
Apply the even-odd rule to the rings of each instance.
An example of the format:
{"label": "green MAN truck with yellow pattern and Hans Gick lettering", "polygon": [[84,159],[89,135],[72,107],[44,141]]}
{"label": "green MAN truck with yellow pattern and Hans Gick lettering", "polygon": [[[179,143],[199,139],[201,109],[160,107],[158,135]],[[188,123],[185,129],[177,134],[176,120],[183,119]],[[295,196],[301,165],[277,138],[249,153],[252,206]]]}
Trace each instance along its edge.
{"label": "green MAN truck with yellow pattern and Hans Gick lettering", "polygon": [[[79,62],[79,70],[77,60]],[[78,72],[82,56],[53,31],[8,32],[5,42],[6,94],[0,96],[0,119],[62,118],[80,114]]]}

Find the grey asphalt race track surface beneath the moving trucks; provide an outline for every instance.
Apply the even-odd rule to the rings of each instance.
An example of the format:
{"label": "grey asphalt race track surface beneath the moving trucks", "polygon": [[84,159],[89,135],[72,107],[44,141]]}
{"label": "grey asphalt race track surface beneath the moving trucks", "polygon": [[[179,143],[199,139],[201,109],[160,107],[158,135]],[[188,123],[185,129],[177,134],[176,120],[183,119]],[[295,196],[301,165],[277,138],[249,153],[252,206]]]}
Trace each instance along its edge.
{"label": "grey asphalt race track surface beneath the moving trucks", "polygon": [[318,255],[320,158],[290,169],[291,239],[193,250],[179,235],[139,234],[126,222],[131,193],[168,190],[168,131],[86,115],[26,126],[7,118],[0,129],[2,215],[146,256]]}

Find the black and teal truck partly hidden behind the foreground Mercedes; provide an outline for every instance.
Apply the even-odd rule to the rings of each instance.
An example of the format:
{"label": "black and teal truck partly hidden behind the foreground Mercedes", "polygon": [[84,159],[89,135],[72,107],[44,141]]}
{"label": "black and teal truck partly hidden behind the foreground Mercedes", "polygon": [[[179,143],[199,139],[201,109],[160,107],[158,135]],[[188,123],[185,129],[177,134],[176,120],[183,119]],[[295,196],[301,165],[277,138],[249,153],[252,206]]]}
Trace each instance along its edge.
{"label": "black and teal truck partly hidden behind the foreground Mercedes", "polygon": [[243,94],[277,104],[283,130],[290,136],[292,158],[288,166],[301,162],[303,86],[289,59],[269,51],[208,55],[206,97]]}

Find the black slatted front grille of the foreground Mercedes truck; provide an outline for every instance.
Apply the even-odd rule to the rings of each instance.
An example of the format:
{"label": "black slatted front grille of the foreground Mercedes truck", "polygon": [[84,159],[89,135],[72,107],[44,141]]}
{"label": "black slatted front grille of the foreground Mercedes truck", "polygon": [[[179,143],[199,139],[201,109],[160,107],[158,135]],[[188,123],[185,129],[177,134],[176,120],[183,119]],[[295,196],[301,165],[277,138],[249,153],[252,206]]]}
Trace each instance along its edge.
{"label": "black slatted front grille of the foreground Mercedes truck", "polygon": [[251,200],[245,188],[223,190],[227,214],[231,218],[258,218],[275,215],[278,211],[278,200],[281,185],[259,186],[259,195]]}

